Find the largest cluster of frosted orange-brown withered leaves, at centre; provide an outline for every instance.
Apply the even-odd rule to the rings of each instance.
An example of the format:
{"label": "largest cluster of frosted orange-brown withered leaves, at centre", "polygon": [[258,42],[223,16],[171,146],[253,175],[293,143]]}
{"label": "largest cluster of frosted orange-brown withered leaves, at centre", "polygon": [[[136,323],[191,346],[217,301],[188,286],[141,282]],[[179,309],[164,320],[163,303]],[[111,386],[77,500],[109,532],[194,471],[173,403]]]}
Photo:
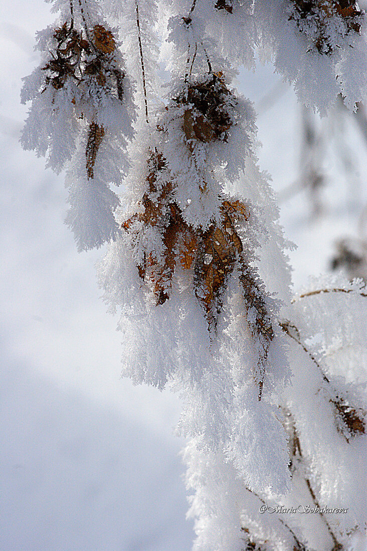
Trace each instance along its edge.
{"label": "largest cluster of frosted orange-brown withered leaves, at centre", "polygon": [[[274,331],[264,290],[243,258],[243,244],[238,235],[235,221],[249,218],[248,207],[239,201],[225,199],[221,204],[221,222],[212,224],[207,230],[190,227],[182,211],[174,202],[173,185],[167,179],[158,186],[158,175],[167,170],[163,155],[155,152],[148,161],[148,190],[143,195],[142,212],[134,214],[123,223],[123,228],[139,235],[141,228],[136,222],[157,228],[162,235],[163,256],[157,259],[152,251],[145,252],[145,261],[137,266],[140,277],[152,288],[156,304],[162,305],[169,299],[172,277],[179,263],[183,269],[194,269],[194,293],[205,311],[208,328],[215,328],[222,307],[222,295],[236,264],[244,291],[247,309],[256,311],[256,318],[249,322],[254,338],[259,341],[258,369],[254,379],[259,385],[259,399],[267,361],[269,343]],[[164,182],[164,180],[163,180]]]}

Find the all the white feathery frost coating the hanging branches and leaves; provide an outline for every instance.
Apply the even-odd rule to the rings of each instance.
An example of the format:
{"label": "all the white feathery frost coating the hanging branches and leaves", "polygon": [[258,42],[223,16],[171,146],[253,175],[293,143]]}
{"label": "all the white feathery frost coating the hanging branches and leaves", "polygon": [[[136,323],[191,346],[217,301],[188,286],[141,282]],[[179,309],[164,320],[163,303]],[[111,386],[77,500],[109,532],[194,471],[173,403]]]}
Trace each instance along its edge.
{"label": "all the white feathery frost coating the hanging branches and leaves", "polygon": [[[44,58],[25,83],[23,101],[32,100],[33,105],[22,140],[25,148],[46,155],[55,171],[66,168],[67,224],[78,249],[109,242],[98,277],[110,309],[120,315],[123,375],[135,384],[147,383],[160,390],[168,386],[182,398],[177,431],[190,438],[185,461],[188,485],[195,491],[191,514],[198,538],[194,549],[241,551],[248,542],[250,549],[252,542],[256,544],[257,551],[347,549],[349,535],[363,530],[365,510],[358,482],[365,467],[365,435],[360,434],[360,426],[366,407],[361,287],[357,283],[349,288],[342,282],[338,285],[348,293],[341,291],[340,301],[328,303],[323,300],[326,295],[315,294],[290,304],[284,252],[289,245],[278,224],[267,175],[260,172],[254,153],[254,111],[230,86],[238,64],[252,67],[254,50],[261,44],[273,57],[275,70],[294,83],[307,105],[324,113],[342,91],[353,109],[366,91],[364,23],[361,33],[353,34],[337,28],[337,21],[328,21],[328,40],[341,47],[320,53],[310,48],[316,36],[312,21],[307,28],[303,23],[298,28],[294,19],[289,20],[289,4],[278,0],[233,0],[232,13],[217,9],[214,1],[200,0],[151,7],[143,1],[109,0],[105,5],[120,27],[127,73],[139,82],[143,106],[135,27],[139,9],[150,124],[143,122],[142,107],[139,124],[133,127],[133,88],[118,50],[104,59],[111,74],[116,68],[124,71],[122,100],[117,87],[97,85],[94,78],[85,77],[76,84],[68,76],[58,90],[46,82],[42,67],[50,61],[49,50],[57,46],[55,28],[71,21],[70,4],[56,2],[60,19],[40,34]],[[78,6],[83,6],[83,12]],[[159,13],[164,14],[160,20]],[[82,0],[73,15],[79,28],[103,24],[109,29],[97,3]],[[165,107],[155,109],[155,53],[157,34],[164,35],[158,28],[163,20],[168,25],[167,68],[172,82],[166,88]],[[243,38],[243,48],[238,37]],[[190,112],[195,123],[203,113],[188,101],[188,90],[214,78],[228,91],[220,106],[228,128],[214,138],[189,137],[185,116]],[[92,123],[104,129],[93,177],[85,165]],[[247,219],[236,230],[248,273],[263,300],[263,316],[272,327],[268,343],[262,334],[251,332],[259,311],[244,296],[240,269],[235,268],[225,282],[215,328],[208,327],[200,295],[195,295],[193,269],[184,270],[177,262],[169,300],[163,304],[157,304],[154,282],[139,276],[145,255],[158,264],[164,261],[162,228],[139,217],[129,231],[121,224],[143,211],[149,191],[147,160],[155,150],[166,160],[156,187],[172,186],[169,201],[180,208],[190,228],[205,231],[220,224],[225,200],[239,200],[248,208]],[[125,195],[120,199],[109,184],[119,185],[125,175]],[[348,309],[358,310],[358,323],[347,315]],[[336,327],[334,318],[341,312],[343,323]],[[359,431],[350,429],[341,404],[347,413],[358,414]],[[292,452],[295,435],[299,445]],[[317,536],[312,535],[306,515],[291,518],[288,525],[287,517],[276,514],[269,519],[259,513],[259,504],[264,503],[298,505],[309,500],[332,507],[343,506],[342,499],[348,514],[318,515]],[[344,547],[337,547],[339,543]]]}

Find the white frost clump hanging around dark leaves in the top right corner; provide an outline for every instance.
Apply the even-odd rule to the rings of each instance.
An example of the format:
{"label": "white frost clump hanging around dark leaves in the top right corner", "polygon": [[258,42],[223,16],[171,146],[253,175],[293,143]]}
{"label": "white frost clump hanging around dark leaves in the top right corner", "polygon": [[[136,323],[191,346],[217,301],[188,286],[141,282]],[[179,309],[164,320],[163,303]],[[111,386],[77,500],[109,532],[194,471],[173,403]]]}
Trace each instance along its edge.
{"label": "white frost clump hanging around dark leaves in the top right corner", "polygon": [[[296,94],[305,105],[326,115],[337,95],[342,93],[349,109],[355,102],[367,97],[367,27],[361,18],[360,33],[351,31],[343,36],[338,22],[332,27],[327,19],[333,51],[319,53],[312,47],[310,35],[297,28],[295,20],[289,20],[292,4],[288,0],[257,0],[254,17],[266,51],[274,62],[275,71],[294,84]],[[342,21],[339,18],[339,21]],[[312,25],[309,23],[312,36]],[[324,31],[323,31],[324,33]]]}

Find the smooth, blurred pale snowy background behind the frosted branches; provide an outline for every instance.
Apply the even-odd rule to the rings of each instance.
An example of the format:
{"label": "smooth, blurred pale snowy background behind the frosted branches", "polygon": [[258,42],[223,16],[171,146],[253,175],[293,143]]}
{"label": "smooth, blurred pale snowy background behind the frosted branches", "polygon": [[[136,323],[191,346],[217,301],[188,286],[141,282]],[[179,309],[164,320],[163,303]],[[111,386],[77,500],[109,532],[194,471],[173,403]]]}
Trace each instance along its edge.
{"label": "smooth, blurred pale snowy background behind the frosted branches", "polygon": [[[63,176],[18,143],[21,79],[38,63],[36,30],[54,16],[41,0],[6,0],[1,17],[0,551],[188,551],[183,441],[172,434],[180,404],[119,379],[123,345],[95,278],[102,252],[78,255],[63,224]],[[269,66],[238,83],[259,113],[262,169],[284,190],[298,174],[294,93]],[[353,174],[345,179],[330,148],[322,217],[312,219],[305,192],[281,203],[299,246],[296,288],[328,270],[336,238],[357,235],[367,156],[352,117],[343,138]]]}

